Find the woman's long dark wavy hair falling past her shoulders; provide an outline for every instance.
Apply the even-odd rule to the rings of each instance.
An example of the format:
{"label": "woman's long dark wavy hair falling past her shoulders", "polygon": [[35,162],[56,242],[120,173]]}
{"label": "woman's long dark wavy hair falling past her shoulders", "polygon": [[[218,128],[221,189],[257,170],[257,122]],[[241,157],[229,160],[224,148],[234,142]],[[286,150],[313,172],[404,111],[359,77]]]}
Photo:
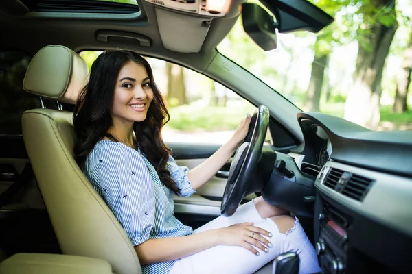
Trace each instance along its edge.
{"label": "woman's long dark wavy hair falling past her shoulders", "polygon": [[120,69],[129,61],[142,64],[146,68],[154,95],[146,119],[133,125],[137,145],[155,167],[161,182],[178,193],[179,188],[166,169],[170,149],[161,138],[161,129],[170,118],[169,112],[153,79],[152,68],[143,57],[133,51],[104,51],[93,62],[89,83],[80,92],[73,114],[74,129],[78,137],[74,155],[83,168],[87,155],[99,140],[104,136],[113,140],[113,136],[108,135],[108,130],[112,126],[111,105],[115,84]]}

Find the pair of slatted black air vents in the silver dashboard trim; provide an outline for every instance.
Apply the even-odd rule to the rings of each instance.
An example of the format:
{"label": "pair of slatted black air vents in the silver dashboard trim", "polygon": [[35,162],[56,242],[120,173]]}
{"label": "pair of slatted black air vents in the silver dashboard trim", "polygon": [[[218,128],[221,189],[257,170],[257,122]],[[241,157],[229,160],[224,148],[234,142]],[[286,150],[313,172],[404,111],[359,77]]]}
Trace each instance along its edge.
{"label": "pair of slatted black air vents in the silver dashboard trim", "polygon": [[372,182],[372,179],[332,168],[328,172],[323,184],[328,188],[341,192],[342,195],[356,201],[362,201]]}

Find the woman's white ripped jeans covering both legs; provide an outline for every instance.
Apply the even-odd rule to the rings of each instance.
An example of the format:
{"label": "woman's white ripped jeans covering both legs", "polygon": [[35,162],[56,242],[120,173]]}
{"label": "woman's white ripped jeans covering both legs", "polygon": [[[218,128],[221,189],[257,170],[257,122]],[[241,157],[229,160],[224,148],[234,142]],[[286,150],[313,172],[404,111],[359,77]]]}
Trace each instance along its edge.
{"label": "woman's white ripped jeans covering both legs", "polygon": [[253,222],[253,225],[273,234],[271,238],[268,238],[273,245],[268,252],[260,251],[260,256],[256,256],[243,247],[218,245],[177,260],[170,270],[170,274],[251,274],[258,271],[279,254],[287,251],[294,251],[298,254],[300,259],[299,273],[306,274],[321,271],[314,247],[308,240],[298,219],[296,219],[295,226],[292,229],[289,229],[285,234],[280,233],[272,219],[262,219],[253,201],[240,206],[235,214],[229,218],[219,216],[199,227],[193,233],[246,222]]}

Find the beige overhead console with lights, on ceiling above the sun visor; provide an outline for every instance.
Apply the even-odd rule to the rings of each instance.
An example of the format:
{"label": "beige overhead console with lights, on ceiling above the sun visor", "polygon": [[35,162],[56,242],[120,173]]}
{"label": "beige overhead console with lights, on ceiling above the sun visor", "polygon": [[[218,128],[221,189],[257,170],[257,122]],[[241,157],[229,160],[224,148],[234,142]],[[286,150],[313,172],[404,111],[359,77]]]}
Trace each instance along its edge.
{"label": "beige overhead console with lights, on ceiling above the sun visor", "polygon": [[209,17],[223,17],[227,14],[231,0],[145,0],[163,8],[189,12]]}

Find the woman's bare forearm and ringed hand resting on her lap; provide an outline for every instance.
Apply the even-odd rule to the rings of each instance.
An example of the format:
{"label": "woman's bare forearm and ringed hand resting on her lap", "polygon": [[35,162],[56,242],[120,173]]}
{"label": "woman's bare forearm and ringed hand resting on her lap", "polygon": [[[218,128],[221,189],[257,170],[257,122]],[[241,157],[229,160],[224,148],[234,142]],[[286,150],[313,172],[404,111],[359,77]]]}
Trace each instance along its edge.
{"label": "woman's bare forearm and ringed hand resting on her lap", "polygon": [[262,235],[268,238],[272,236],[270,232],[253,226],[253,223],[240,223],[189,236],[149,239],[135,246],[135,250],[141,264],[177,260],[216,245],[236,245],[259,255],[252,245],[264,252],[272,246]]}

